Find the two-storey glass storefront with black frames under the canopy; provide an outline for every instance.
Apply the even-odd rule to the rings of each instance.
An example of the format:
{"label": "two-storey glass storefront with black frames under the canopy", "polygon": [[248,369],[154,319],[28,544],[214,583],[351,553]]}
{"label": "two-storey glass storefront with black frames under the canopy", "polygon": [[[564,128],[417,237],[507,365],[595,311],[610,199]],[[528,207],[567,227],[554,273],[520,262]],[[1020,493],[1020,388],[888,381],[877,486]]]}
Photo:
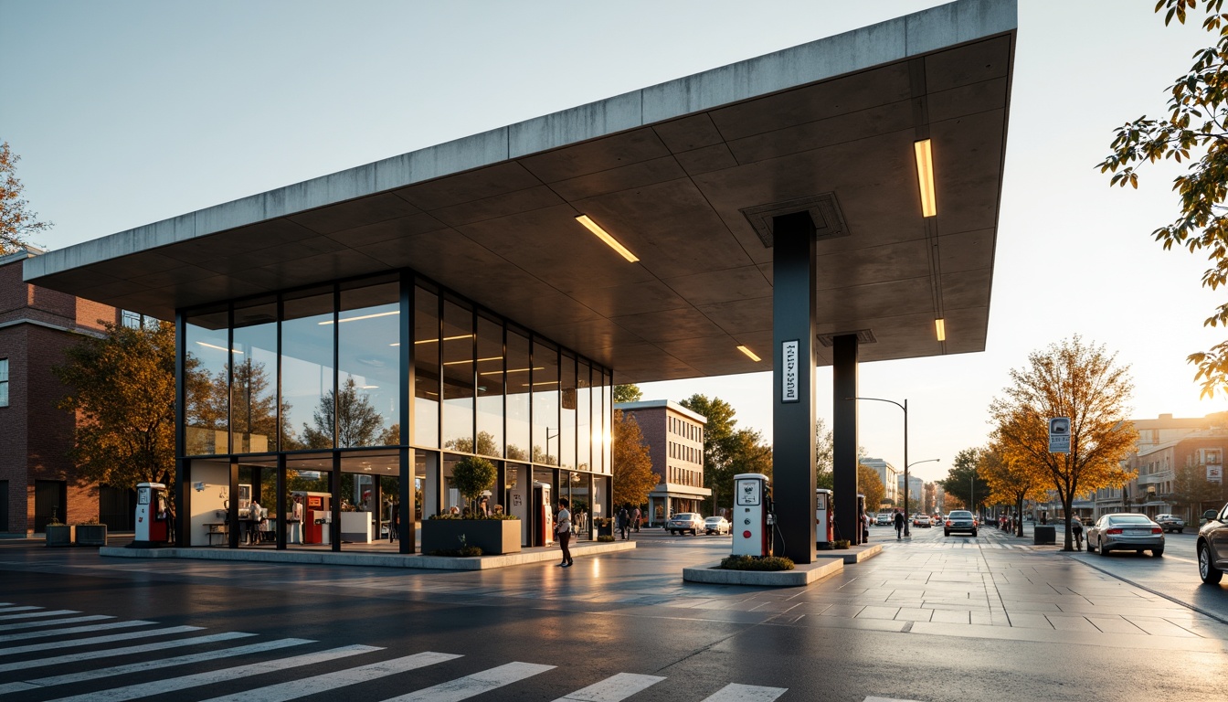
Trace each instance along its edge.
{"label": "two-storey glass storefront with black frames under the canopy", "polygon": [[[609,514],[596,502],[609,495],[613,374],[413,272],[177,322],[179,543],[340,550],[413,535],[459,507],[451,471],[468,455],[499,468],[491,509],[512,511],[532,476]],[[408,530],[393,527],[402,514]]]}

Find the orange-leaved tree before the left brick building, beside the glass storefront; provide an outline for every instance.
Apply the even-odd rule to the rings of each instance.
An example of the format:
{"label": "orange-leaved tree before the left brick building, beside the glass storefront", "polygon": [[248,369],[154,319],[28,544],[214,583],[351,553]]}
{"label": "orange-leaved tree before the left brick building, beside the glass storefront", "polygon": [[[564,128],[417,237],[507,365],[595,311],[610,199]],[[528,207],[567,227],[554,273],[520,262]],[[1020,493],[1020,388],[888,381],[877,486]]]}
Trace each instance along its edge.
{"label": "orange-leaved tree before the left brick building, beside the glass storefront", "polygon": [[70,390],[59,408],[79,420],[70,456],[99,484],[174,484],[174,326],[106,325],[55,366]]}

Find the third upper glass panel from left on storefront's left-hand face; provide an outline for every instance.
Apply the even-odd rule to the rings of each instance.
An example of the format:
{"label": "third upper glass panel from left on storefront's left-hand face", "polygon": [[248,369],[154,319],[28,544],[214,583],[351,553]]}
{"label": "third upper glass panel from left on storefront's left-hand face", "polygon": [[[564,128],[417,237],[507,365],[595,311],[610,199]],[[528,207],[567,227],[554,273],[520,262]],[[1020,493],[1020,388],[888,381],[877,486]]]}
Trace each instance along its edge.
{"label": "third upper glass panel from left on storefront's left-hand face", "polygon": [[281,322],[282,450],[333,448],[333,291],[287,298]]}

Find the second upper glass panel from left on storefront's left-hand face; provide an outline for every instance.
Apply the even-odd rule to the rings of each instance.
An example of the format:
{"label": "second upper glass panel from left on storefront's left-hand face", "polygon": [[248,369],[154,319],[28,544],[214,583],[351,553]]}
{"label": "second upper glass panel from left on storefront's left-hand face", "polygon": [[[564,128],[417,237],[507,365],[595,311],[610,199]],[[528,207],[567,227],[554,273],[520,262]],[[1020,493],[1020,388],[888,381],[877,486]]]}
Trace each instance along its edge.
{"label": "second upper glass panel from left on storefront's left-hand face", "polygon": [[[231,432],[236,454],[278,450],[278,304],[235,305]],[[271,493],[270,493],[271,494]]]}

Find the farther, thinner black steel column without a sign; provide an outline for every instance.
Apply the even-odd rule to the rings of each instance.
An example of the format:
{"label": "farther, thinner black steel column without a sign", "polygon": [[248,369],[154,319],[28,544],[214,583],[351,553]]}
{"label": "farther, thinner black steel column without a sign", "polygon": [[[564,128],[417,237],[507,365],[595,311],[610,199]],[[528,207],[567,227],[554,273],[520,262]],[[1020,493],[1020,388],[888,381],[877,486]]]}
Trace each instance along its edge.
{"label": "farther, thinner black steel column without a sign", "polygon": [[[833,339],[831,476],[836,538],[857,543],[857,336]],[[866,505],[876,509],[878,505]]]}

